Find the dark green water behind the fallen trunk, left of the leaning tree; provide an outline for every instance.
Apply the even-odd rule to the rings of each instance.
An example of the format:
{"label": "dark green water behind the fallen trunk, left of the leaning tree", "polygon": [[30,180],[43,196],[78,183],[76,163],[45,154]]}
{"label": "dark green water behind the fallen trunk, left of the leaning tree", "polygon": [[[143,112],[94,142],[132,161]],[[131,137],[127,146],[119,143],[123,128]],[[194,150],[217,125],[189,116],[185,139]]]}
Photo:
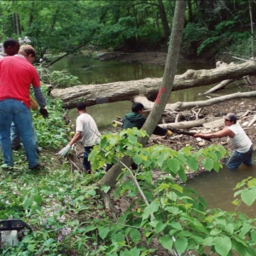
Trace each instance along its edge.
{"label": "dark green water behind the fallen trunk, left of the leaning tree", "polygon": [[84,55],[69,56],[57,61],[52,70],[67,70],[82,84],[107,84],[146,78],[160,78],[164,67],[120,61],[98,61]]}

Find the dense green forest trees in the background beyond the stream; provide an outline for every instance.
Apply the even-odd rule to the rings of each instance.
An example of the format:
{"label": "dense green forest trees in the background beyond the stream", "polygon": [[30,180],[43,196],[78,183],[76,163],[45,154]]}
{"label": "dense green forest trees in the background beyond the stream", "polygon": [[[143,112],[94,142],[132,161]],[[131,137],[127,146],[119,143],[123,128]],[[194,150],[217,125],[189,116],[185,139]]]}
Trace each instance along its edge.
{"label": "dense green forest trees in the background beyond the stream", "polygon": [[[27,36],[40,57],[73,53],[79,46],[166,47],[174,6],[169,0],[1,1],[0,40]],[[188,0],[182,52],[195,57],[212,49],[212,55],[250,56],[255,15],[252,0]]]}

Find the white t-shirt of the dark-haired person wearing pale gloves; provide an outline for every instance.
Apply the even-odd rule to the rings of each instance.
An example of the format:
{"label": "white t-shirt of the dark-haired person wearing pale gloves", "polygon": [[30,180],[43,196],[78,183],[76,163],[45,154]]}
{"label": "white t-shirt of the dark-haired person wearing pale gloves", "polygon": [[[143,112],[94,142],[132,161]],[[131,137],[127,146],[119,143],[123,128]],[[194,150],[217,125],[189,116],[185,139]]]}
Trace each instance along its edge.
{"label": "white t-shirt of the dark-haired person wearing pale gloves", "polygon": [[82,143],[84,147],[94,146],[100,143],[101,133],[98,131],[95,120],[88,113],[82,113],[76,120],[76,131],[82,131]]}

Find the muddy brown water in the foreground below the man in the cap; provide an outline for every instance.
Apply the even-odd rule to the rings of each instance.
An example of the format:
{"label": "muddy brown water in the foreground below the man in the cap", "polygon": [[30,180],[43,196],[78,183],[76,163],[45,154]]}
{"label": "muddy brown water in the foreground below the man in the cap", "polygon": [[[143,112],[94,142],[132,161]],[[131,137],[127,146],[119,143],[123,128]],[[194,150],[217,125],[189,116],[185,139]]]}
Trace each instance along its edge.
{"label": "muddy brown water in the foreground below the man in the cap", "polygon": [[[256,154],[253,154],[255,159]],[[195,178],[190,179],[186,186],[201,195],[209,208],[220,208],[227,212],[236,211],[236,206],[231,202],[234,198],[233,190],[237,183],[240,183],[247,177],[256,177],[256,160],[253,161],[254,166],[241,165],[235,172],[231,172],[225,165],[219,172],[205,172]],[[255,202],[256,203],[256,202]],[[246,213],[251,218],[256,218],[255,203],[251,207],[247,207],[245,203],[241,203],[238,212]]]}

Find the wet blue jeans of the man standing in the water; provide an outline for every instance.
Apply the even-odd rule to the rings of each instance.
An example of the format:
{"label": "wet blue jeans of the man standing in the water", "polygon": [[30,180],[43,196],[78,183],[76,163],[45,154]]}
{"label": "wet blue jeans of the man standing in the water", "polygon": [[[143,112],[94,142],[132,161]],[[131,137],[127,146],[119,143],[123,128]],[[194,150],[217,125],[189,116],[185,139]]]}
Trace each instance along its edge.
{"label": "wet blue jeans of the man standing in the water", "polygon": [[235,170],[241,163],[252,166],[252,154],[253,154],[253,145],[246,153],[239,153],[236,150],[230,155],[230,159],[227,162],[227,166],[230,170]]}

